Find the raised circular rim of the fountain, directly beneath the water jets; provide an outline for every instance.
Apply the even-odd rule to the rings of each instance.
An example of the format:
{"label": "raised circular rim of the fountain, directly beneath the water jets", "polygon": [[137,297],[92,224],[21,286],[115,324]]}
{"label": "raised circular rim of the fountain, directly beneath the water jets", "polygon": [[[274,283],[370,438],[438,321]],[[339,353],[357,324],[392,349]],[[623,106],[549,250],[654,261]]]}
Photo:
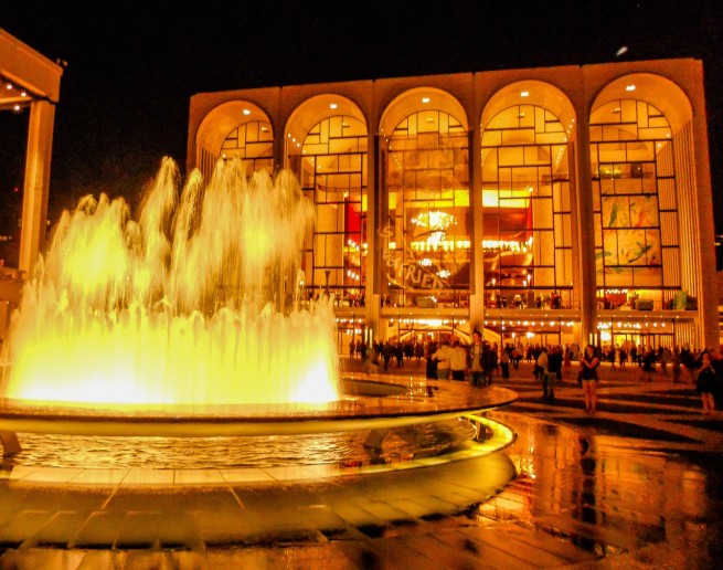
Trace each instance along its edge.
{"label": "raised circular rim of the fountain, directly beneath the water jets", "polygon": [[[426,382],[424,382],[426,387]],[[426,390],[426,389],[425,389]],[[428,397],[427,393],[434,395]],[[231,435],[286,435],[381,430],[442,422],[469,413],[482,413],[514,402],[517,392],[500,388],[472,388],[456,381],[438,382],[438,390],[425,397],[358,397],[342,401],[334,410],[285,410],[284,414],[91,415],[70,409],[23,409],[0,403],[0,431],[71,435],[211,437]],[[243,408],[240,408],[243,411]]]}

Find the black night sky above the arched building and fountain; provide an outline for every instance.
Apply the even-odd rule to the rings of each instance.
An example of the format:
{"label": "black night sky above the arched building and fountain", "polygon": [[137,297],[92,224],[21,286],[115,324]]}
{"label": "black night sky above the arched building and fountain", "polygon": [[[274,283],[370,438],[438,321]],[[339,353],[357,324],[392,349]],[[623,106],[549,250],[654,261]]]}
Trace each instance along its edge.
{"label": "black night sky above the arched building and fountain", "polygon": [[[266,0],[202,2],[194,11],[176,2],[142,9],[83,3],[0,0],[0,28],[50,60],[67,62],[55,115],[53,221],[87,193],[134,203],[166,155],[183,170],[195,93],[695,57],[705,71],[715,220],[723,233],[720,0],[560,0],[531,8],[469,0],[424,9],[415,2]],[[616,56],[623,45],[628,52]],[[14,199],[11,189],[22,184],[18,155],[26,116],[0,113],[3,211]]]}

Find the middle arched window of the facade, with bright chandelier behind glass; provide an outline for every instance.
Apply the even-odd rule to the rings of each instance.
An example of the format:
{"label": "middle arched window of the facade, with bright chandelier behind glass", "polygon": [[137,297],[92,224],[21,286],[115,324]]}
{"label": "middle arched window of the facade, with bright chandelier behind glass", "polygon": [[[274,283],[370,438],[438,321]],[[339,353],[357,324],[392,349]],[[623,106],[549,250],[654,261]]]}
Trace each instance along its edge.
{"label": "middle arched window of the facade, with bright chandelier behind glass", "polygon": [[469,136],[439,109],[408,115],[387,138],[382,221],[382,302],[400,307],[469,304]]}

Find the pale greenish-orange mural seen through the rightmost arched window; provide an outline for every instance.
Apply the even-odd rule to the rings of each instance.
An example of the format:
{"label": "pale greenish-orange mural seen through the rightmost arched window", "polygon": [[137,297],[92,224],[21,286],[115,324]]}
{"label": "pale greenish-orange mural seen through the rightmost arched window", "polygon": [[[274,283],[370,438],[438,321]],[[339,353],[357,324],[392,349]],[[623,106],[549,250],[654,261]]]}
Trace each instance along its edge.
{"label": "pale greenish-orange mural seen through the rightmost arched window", "polygon": [[607,273],[628,267],[660,267],[658,197],[604,196],[603,255]]}

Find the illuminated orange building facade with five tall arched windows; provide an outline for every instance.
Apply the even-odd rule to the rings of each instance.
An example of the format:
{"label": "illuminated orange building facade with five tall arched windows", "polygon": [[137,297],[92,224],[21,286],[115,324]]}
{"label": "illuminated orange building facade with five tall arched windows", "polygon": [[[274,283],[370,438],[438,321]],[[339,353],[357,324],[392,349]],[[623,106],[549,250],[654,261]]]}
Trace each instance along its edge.
{"label": "illuminated orange building facade with five tall arched windows", "polygon": [[204,93],[187,167],[290,168],[305,294],[339,346],[719,342],[702,63],[623,62]]}

